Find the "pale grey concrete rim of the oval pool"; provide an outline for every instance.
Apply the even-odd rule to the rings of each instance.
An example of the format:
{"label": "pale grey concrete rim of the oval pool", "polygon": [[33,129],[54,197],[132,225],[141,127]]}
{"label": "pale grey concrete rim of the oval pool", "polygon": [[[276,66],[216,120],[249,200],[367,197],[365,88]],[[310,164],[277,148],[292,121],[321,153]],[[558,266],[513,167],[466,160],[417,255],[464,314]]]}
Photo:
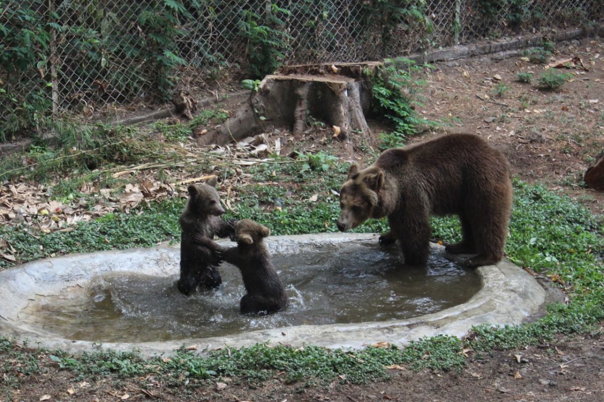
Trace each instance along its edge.
{"label": "pale grey concrete rim of the oval pool", "polygon": [[[330,250],[338,243],[376,243],[378,234],[320,233],[297,236],[272,236],[267,245],[271,254],[290,254],[301,250]],[[230,242],[222,242],[229,244]],[[444,254],[444,247],[432,244],[433,253]],[[146,249],[101,251],[89,254],[42,259],[0,272],[0,334],[18,342],[39,345],[70,353],[91,351],[97,342],[71,341],[57,334],[32,327],[19,318],[19,312],[37,295],[52,295],[66,286],[80,286],[94,275],[104,272],[146,272],[170,275],[178,267],[178,247],[162,245]],[[542,310],[551,300],[548,292],[524,269],[510,262],[478,268],[483,288],[469,301],[437,313],[396,321],[360,322],[355,324],[298,325],[271,330],[257,330],[231,336],[181,339],[165,342],[104,343],[103,348],[138,350],[141,354],[169,354],[182,345],[197,350],[244,347],[257,343],[300,346],[312,344],[330,348],[362,348],[376,342],[406,345],[424,336],[437,334],[461,338],[472,325],[521,324]],[[44,283],[43,291],[39,284]],[[43,292],[43,294],[41,293]],[[555,292],[555,291],[554,291]],[[15,297],[19,295],[21,297]],[[558,297],[554,297],[556,300]]]}

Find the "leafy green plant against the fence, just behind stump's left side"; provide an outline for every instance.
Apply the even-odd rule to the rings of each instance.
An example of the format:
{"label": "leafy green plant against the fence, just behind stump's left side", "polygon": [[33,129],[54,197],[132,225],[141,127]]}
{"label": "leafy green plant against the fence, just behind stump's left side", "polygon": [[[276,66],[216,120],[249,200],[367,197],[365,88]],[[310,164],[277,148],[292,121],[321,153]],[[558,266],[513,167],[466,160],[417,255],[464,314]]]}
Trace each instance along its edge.
{"label": "leafy green plant against the fence, just behind stump's left side", "polygon": [[283,16],[290,11],[271,4],[271,11],[265,17],[251,10],[242,11],[239,22],[239,36],[246,41],[246,55],[249,61],[249,72],[257,78],[274,72],[289,49],[291,36],[284,29]]}

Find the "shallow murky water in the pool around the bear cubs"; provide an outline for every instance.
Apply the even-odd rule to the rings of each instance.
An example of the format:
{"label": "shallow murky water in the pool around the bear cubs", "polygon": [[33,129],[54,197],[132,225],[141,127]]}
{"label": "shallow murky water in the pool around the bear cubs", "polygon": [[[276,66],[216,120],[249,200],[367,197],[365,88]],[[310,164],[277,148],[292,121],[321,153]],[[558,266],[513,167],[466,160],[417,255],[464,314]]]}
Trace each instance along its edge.
{"label": "shallow murky water in the pool around the bear cubs", "polygon": [[481,286],[474,271],[432,256],[425,267],[405,266],[397,254],[350,245],[330,253],[273,256],[289,307],[269,316],[243,316],[239,271],[220,268],[223,284],[191,297],[176,277],[114,272],[86,288],[37,298],[34,321],[68,339],[148,342],[223,336],[303,324],[388,321],[464,303]]}

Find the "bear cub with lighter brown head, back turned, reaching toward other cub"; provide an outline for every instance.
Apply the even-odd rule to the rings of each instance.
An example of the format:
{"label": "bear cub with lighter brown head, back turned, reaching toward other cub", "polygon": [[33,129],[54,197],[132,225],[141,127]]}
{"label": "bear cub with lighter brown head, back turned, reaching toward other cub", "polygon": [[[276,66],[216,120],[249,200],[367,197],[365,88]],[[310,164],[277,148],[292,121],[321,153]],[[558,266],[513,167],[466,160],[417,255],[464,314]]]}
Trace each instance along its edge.
{"label": "bear cub with lighter brown head, back turned, reaching toward other cub", "polygon": [[251,219],[242,219],[234,225],[237,247],[225,249],[202,236],[196,236],[195,240],[222,254],[226,262],[241,271],[247,291],[239,302],[243,314],[263,315],[284,309],[288,305],[288,297],[263,241],[271,230]]}

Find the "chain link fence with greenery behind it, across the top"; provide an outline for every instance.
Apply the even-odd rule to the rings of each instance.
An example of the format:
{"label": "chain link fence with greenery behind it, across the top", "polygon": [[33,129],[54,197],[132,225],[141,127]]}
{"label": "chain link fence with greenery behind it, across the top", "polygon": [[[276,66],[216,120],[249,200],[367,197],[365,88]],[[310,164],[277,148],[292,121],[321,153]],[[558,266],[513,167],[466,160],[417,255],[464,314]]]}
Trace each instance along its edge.
{"label": "chain link fence with greenery behind it, across the top", "polygon": [[278,63],[382,60],[603,18],[602,0],[0,0],[0,133]]}

